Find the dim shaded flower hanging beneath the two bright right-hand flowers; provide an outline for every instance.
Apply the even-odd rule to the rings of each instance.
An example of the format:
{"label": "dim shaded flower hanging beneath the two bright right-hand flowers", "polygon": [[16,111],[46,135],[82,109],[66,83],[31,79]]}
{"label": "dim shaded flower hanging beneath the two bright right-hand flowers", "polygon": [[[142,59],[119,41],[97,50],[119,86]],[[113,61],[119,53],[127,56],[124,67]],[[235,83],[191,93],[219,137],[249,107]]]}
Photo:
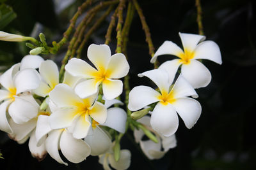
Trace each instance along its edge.
{"label": "dim shaded flower hanging beneath the two bright right-hand flowers", "polygon": [[[172,136],[164,137],[163,135],[154,131],[150,125],[150,117],[145,116],[137,120],[143,124],[149,131],[156,134],[158,143],[154,143],[152,140],[143,141],[144,132],[139,129],[134,130],[134,138],[137,143],[140,143],[141,150],[145,153],[148,159],[161,159],[170,148],[175,148],[177,146],[177,141],[175,134]],[[163,151],[161,148],[163,147]]]}

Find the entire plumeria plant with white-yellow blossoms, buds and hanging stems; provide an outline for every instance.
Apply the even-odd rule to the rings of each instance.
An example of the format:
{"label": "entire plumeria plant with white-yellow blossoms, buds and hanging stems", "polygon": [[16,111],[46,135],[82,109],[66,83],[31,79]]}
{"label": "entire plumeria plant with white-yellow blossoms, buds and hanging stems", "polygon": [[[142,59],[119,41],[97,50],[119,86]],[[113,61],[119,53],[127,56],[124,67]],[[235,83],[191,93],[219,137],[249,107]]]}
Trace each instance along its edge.
{"label": "entire plumeria plant with white-yellow blossoms, buds and hanging stems", "polygon": [[[85,10],[86,15],[76,25]],[[93,20],[99,11],[104,14]],[[151,55],[151,59],[145,57],[145,62],[154,63],[150,70],[136,74],[149,78],[155,85],[148,87],[142,82],[131,89],[129,74],[136,70],[129,65],[127,41],[135,11]],[[92,32],[109,15],[105,43],[92,43],[85,48]],[[115,20],[113,52],[109,42]],[[87,0],[70,22],[63,38],[58,43],[53,41],[52,46],[43,33],[39,34],[39,41],[0,31],[1,41],[29,41],[26,45],[32,48],[29,55],[0,76],[0,130],[19,144],[29,141],[29,151],[36,159],[44,160],[49,154],[65,166],[98,156],[104,169],[128,169],[132,153],[122,148],[122,141],[131,132],[145,157],[164,157],[179,145],[175,132],[180,118],[191,129],[204,114],[196,100],[200,99],[196,89],[207,88],[211,73],[201,59],[221,64],[218,45],[204,41],[202,32],[179,32],[183,49],[168,40],[155,53],[136,0]],[[90,24],[93,25],[89,27]],[[58,67],[54,56],[65,44],[67,52]],[[83,49],[87,54],[81,59]],[[47,59],[48,55],[52,60]],[[162,63],[157,61],[159,55],[175,55],[179,59]]]}

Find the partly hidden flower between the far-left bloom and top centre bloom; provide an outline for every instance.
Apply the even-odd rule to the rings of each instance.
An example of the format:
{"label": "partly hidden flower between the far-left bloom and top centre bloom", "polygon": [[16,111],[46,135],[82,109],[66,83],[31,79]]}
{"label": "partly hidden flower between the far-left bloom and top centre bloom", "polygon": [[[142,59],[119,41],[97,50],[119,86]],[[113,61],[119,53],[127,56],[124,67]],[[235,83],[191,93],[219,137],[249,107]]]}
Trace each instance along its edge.
{"label": "partly hidden flower between the far-left bloom and top centre bloom", "polygon": [[[49,92],[51,92],[51,90],[59,84],[58,66],[52,60],[45,60],[40,64],[39,73],[42,80],[38,82],[40,83],[40,86],[33,90],[33,92],[38,96],[49,96]],[[66,71],[63,83],[73,88],[79,79],[79,77],[71,76]]]}

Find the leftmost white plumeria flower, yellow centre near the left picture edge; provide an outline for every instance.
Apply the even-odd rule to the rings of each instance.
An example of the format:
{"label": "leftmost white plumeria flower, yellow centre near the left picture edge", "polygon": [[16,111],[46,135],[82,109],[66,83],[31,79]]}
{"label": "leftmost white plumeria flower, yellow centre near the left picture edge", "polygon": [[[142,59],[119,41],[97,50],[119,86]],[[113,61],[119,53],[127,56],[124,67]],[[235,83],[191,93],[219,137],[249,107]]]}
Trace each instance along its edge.
{"label": "leftmost white plumeria flower, yellow centre near the left picture edge", "polygon": [[[35,60],[33,60],[35,59]],[[8,115],[17,124],[28,122],[35,115],[30,111],[24,112],[17,109],[22,106],[22,110],[29,110],[29,103],[22,101],[22,96],[31,95],[29,91],[36,89],[40,80],[39,74],[35,69],[26,63],[26,59],[31,58],[31,63],[37,62],[38,57],[28,55],[24,57],[24,62],[15,64],[0,76],[0,83],[3,89],[0,90],[0,130],[12,133],[8,123]],[[22,70],[19,71],[19,69]],[[27,92],[27,93],[25,93]]]}

